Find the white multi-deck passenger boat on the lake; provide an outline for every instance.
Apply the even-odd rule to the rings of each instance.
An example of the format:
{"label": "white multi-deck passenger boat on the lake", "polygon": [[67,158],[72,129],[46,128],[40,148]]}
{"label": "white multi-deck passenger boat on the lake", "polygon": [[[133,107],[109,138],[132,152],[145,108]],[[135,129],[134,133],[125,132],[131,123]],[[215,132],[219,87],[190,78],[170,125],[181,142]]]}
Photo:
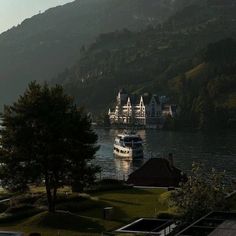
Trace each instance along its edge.
{"label": "white multi-deck passenger boat on the lake", "polygon": [[118,134],[115,138],[113,153],[120,158],[142,158],[143,140],[135,133]]}

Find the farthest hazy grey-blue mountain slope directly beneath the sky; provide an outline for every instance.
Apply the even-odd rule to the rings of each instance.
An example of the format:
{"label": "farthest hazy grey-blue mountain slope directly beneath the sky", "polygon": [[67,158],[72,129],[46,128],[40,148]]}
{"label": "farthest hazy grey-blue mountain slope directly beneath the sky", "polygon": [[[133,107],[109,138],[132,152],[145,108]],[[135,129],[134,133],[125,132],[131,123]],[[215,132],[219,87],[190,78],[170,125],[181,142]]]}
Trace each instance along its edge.
{"label": "farthest hazy grey-blue mountain slope directly beneath the sky", "polygon": [[100,33],[164,22],[187,0],[76,0],[0,35],[0,104],[32,80],[48,80],[79,58]]}

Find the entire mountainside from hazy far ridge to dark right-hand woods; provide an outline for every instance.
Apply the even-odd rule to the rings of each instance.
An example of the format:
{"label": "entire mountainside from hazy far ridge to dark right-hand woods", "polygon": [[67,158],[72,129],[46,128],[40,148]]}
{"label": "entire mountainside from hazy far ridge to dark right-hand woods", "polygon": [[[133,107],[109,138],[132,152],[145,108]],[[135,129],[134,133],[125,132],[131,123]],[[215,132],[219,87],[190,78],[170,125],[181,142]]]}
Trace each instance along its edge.
{"label": "entire mountainside from hazy far ridge to dark right-hand woods", "polygon": [[77,0],[0,35],[0,103],[53,78],[97,114],[125,87],[170,96],[173,127],[231,126],[235,39],[234,0]]}

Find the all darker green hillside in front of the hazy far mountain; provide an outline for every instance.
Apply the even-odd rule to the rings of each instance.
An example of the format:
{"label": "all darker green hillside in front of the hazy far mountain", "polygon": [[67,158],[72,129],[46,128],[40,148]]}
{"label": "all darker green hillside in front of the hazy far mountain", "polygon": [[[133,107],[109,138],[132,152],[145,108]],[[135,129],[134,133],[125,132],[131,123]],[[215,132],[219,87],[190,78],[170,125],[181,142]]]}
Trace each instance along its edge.
{"label": "all darker green hillside in front of the hazy far mountain", "polygon": [[[90,47],[82,48],[76,65],[53,81],[62,83],[93,112],[105,112],[117,90],[125,87],[133,93],[169,95],[180,104],[183,122],[172,126],[228,126],[235,112],[236,70],[234,57],[228,64],[224,60],[234,52],[236,6],[215,3],[199,1],[164,24],[140,32],[100,35]],[[222,54],[224,50],[228,53]],[[181,87],[185,83],[189,87]],[[203,100],[211,110],[205,111]],[[215,123],[210,122],[212,116],[218,118]]]}

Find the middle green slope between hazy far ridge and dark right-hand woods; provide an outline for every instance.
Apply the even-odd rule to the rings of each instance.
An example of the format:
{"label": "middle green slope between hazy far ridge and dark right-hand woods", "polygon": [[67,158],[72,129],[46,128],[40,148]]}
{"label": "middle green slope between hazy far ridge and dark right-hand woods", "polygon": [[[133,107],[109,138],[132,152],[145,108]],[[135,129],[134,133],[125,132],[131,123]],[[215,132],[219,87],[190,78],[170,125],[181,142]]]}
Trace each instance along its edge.
{"label": "middle green slope between hazy far ridge and dark right-hand woods", "polygon": [[134,93],[171,94],[169,80],[202,63],[198,54],[203,48],[236,38],[236,6],[205,3],[194,2],[161,26],[101,35],[54,82],[94,112],[105,111],[120,87]]}

